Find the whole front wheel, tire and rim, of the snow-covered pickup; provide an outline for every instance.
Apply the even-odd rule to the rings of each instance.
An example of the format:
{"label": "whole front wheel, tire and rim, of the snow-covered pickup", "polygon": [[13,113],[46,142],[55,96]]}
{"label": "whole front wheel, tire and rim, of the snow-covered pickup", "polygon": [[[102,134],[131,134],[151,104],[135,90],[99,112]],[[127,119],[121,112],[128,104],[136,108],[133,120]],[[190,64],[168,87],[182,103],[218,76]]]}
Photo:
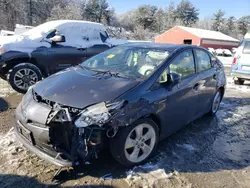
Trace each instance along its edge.
{"label": "whole front wheel, tire and rim, of the snow-covered pickup", "polygon": [[26,93],[28,88],[42,79],[39,68],[31,63],[20,63],[9,71],[8,81],[19,93]]}

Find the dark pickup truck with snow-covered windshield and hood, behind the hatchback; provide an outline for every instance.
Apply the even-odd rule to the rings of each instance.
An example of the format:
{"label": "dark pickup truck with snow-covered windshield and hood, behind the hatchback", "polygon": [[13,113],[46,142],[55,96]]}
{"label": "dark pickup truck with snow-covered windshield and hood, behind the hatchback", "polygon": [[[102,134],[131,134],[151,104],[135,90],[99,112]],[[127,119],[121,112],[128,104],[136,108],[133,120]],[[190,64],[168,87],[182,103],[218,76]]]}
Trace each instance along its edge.
{"label": "dark pickup truck with snow-covered windshield and hood, behind the hatchback", "polygon": [[110,39],[104,25],[57,20],[0,38],[0,77],[25,93],[42,78],[126,41]]}

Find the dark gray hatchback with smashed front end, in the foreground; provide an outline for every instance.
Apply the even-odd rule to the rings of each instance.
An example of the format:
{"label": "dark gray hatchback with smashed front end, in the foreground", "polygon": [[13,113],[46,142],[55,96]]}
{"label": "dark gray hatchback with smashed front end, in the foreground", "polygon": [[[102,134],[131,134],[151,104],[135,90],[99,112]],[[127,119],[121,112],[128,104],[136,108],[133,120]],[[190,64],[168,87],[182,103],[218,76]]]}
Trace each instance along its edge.
{"label": "dark gray hatchback with smashed front end, in the foreground", "polygon": [[216,114],[225,85],[223,65],[206,49],[121,45],[30,88],[16,110],[15,132],[56,165],[84,164],[109,148],[131,167],[163,138]]}

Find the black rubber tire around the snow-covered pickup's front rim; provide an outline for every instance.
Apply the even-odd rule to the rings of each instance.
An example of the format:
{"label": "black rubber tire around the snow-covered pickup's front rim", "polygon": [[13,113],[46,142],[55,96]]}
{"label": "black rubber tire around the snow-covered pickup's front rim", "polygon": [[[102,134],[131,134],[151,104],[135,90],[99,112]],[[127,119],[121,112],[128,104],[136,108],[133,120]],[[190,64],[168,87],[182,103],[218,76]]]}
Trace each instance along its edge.
{"label": "black rubber tire around the snow-covered pickup's front rim", "polygon": [[32,71],[34,71],[37,74],[38,81],[42,79],[42,74],[37,66],[35,66],[31,63],[22,63],[22,65],[21,64],[16,65],[13,69],[11,69],[9,71],[8,81],[9,81],[9,84],[11,85],[11,87],[19,93],[26,93],[27,90],[20,89],[15,85],[14,75],[16,74],[17,71],[19,71],[20,69],[23,69],[23,68],[31,69]]}

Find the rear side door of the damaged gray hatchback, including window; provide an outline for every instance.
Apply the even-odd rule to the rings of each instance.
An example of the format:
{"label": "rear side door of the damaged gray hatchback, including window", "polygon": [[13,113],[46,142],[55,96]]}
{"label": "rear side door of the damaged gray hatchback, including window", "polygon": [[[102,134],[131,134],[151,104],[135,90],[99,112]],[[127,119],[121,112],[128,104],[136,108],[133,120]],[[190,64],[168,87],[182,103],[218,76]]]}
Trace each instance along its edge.
{"label": "rear side door of the damaged gray hatchback, including window", "polygon": [[203,49],[194,49],[196,68],[199,75],[198,103],[196,115],[200,116],[211,108],[213,97],[216,93],[217,73],[212,66],[211,57]]}

